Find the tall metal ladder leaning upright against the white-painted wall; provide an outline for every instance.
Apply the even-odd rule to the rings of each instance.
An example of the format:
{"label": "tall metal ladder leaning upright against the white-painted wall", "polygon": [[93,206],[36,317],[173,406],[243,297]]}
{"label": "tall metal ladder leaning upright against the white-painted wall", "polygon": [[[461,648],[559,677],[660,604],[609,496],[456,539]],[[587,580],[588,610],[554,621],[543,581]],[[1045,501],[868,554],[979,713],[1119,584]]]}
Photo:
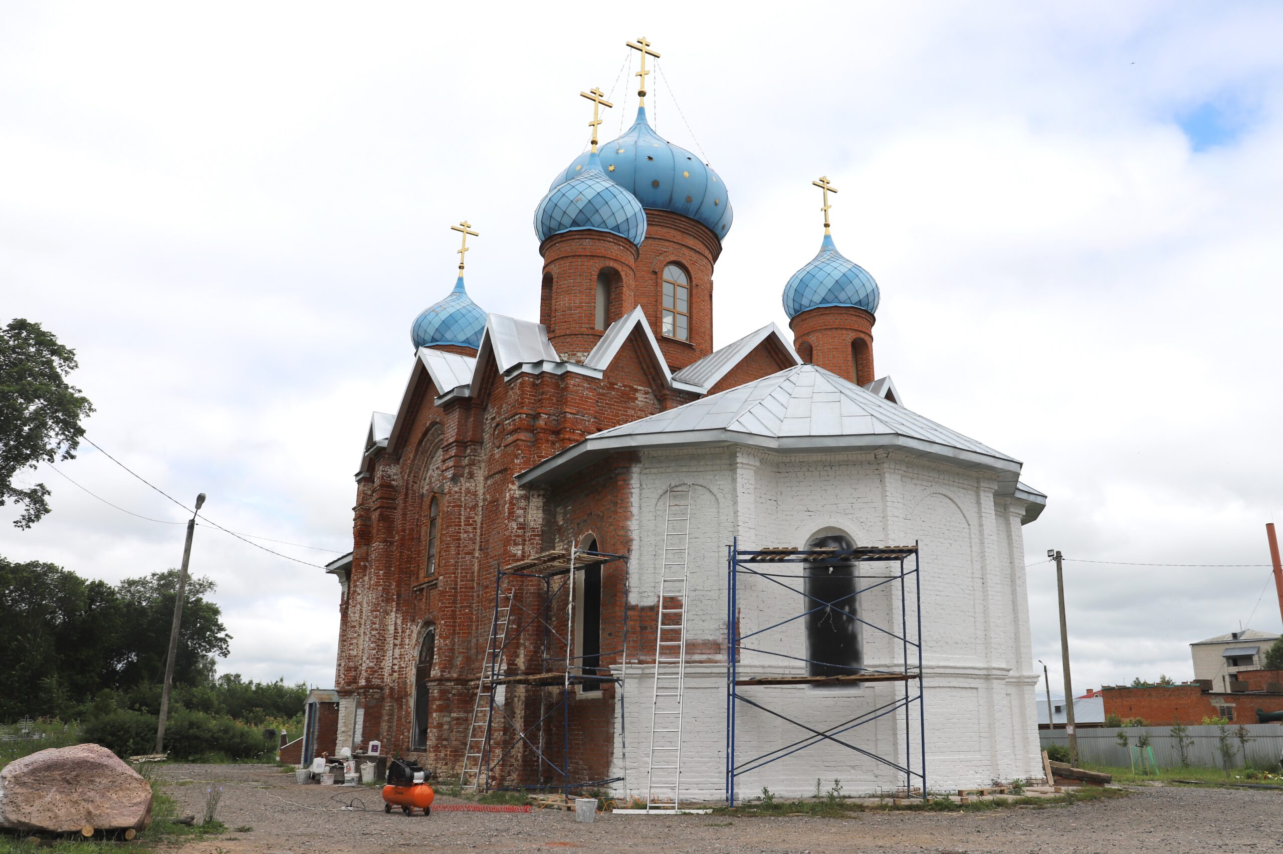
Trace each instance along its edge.
{"label": "tall metal ladder leaning upright against the white-painted wall", "polygon": [[677,789],[681,785],[681,699],[686,682],[689,545],[690,485],[670,486],[654,632],[654,700],[650,707],[647,812],[677,812]]}

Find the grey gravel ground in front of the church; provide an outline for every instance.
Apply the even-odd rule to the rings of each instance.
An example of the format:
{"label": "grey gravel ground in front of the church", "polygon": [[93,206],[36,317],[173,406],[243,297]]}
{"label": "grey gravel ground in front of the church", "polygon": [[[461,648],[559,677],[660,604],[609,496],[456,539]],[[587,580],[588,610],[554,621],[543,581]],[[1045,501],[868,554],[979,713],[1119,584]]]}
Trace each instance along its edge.
{"label": "grey gravel ground in front of the church", "polygon": [[[377,789],[299,786],[271,766],[163,766],[182,812],[200,814],[223,786],[218,818],[235,832],[185,854],[372,854],[376,851],[1283,851],[1283,792],[1147,786],[1130,796],[984,813],[863,813],[849,819],[611,816],[574,813],[387,816]],[[190,781],[190,782],[183,782]],[[266,786],[266,787],[264,787]],[[343,810],[353,798],[366,812]],[[438,798],[438,803],[450,803]]]}

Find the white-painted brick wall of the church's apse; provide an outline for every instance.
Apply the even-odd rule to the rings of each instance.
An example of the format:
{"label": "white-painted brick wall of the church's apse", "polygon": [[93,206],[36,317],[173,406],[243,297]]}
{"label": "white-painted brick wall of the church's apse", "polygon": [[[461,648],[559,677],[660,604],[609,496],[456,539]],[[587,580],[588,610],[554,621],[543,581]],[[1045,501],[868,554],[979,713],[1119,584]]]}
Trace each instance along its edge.
{"label": "white-painted brick wall of the church's apse", "polygon": [[[653,607],[658,591],[665,494],[693,485],[688,639],[725,641],[726,545],[802,546],[822,528],[847,532],[858,545],[921,546],[922,640],[926,686],[928,785],[933,790],[987,785],[992,780],[1041,777],[1029,614],[1019,524],[1023,505],[996,499],[993,478],[899,454],[777,455],[748,449],[645,451],[634,473],[633,604]],[[799,574],[799,564],[780,572]],[[862,574],[898,572],[898,564],[866,564]],[[801,589],[801,580],[781,578]],[[913,585],[901,613],[898,585],[861,596],[861,617],[898,627],[917,615]],[[740,576],[740,633],[801,614],[801,592]],[[898,631],[898,628],[897,628]],[[894,669],[901,642],[863,628],[867,667]],[[749,641],[803,658],[802,621]],[[916,658],[916,657],[913,657]],[[916,662],[915,662],[916,663]],[[740,673],[803,674],[798,660],[745,651]],[[645,794],[649,749],[650,668],[630,668],[626,683],[627,755],[616,740],[616,772],[626,766],[627,791]],[[753,686],[740,692],[819,730],[888,703],[898,683],[857,689]],[[740,704],[736,758],[786,745],[807,733],[780,718]],[[725,659],[688,666],[683,718],[683,798],[720,799],[726,763]],[[840,736],[865,750],[905,762],[910,739],[917,764],[920,731],[913,709],[901,710]],[[903,776],[872,759],[825,744],[808,748],[738,778],[738,796],[762,786],[780,795],[806,795],[816,778],[828,789],[842,780],[847,792],[890,789]],[[616,786],[622,792],[624,786]]]}

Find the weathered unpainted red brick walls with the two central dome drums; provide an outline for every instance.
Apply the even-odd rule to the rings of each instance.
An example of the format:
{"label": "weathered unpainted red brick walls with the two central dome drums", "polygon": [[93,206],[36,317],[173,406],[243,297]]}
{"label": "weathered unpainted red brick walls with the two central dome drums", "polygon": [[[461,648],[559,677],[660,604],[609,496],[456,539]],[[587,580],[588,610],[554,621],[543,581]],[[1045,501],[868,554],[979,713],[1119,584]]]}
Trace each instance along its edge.
{"label": "weathered unpainted red brick walls with the two central dome drums", "polygon": [[[689,342],[657,333],[657,354],[634,328],[599,377],[574,371],[504,376],[493,358],[482,358],[468,394],[440,401],[449,389],[436,389],[427,378],[412,381],[386,448],[367,449],[358,476],[335,674],[340,695],[355,696],[363,709],[354,746],[380,740],[389,755],[413,755],[443,774],[457,773],[490,631],[497,568],[572,541],[582,545],[585,537],[595,539],[602,550],[630,549],[630,455],[617,454],[556,487],[522,489],[513,477],[585,436],[698,396],[666,381],[663,365],[675,372],[712,353],[712,272],[721,246],[694,221],[661,210],[647,215],[640,247],[599,231],[565,232],[544,241],[540,321],[561,358],[582,363],[603,335],[595,328],[595,301],[598,274],[606,271],[607,326],[640,305],[658,332],[662,271],[676,263],[690,278]],[[475,355],[457,346],[441,349]],[[786,347],[763,342],[716,390],[792,364]],[[434,496],[440,515],[435,572],[429,576],[427,515]],[[622,564],[603,569],[602,667],[620,660],[624,583]],[[532,612],[543,604],[543,586],[516,585],[514,596]],[[553,613],[558,608],[565,609],[563,599],[552,603]],[[629,642],[633,660],[635,650],[645,650],[647,621],[653,644],[654,615],[634,609],[629,621],[635,632]],[[435,657],[427,739],[416,745],[414,674],[429,626],[435,628]],[[508,660],[517,672],[540,666],[531,645],[518,646]],[[506,710],[530,726],[547,714],[550,694],[559,690],[508,686]],[[599,692],[577,690],[568,704],[571,773],[579,780],[607,776],[615,749],[615,691],[609,683]],[[561,762],[562,732],[556,733],[544,750]],[[509,746],[511,735],[497,731],[491,751]],[[549,781],[532,750],[518,744],[512,755],[507,780],[493,782]]]}

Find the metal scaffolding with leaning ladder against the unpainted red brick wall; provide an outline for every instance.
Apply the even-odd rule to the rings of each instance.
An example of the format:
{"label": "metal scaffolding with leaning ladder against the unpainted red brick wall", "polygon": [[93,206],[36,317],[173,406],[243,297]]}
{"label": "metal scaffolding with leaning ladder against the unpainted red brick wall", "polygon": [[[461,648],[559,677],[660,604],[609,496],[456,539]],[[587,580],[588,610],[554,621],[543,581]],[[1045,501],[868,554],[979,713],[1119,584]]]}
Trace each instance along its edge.
{"label": "metal scaffolding with leaning ladder against the unpainted red brick wall", "polygon": [[[624,692],[627,667],[629,644],[629,573],[627,555],[611,554],[608,551],[589,551],[571,545],[566,550],[545,551],[527,560],[502,567],[495,573],[494,582],[494,619],[491,622],[490,637],[491,649],[488,651],[482,666],[479,695],[488,692],[489,714],[486,719],[486,733],[480,748],[480,760],[477,766],[476,787],[479,791],[491,789],[490,778],[495,772],[507,769],[504,763],[512,762],[516,766],[516,780],[506,780],[504,785],[494,789],[543,789],[562,790],[567,796],[571,790],[604,786],[624,780],[624,777],[609,777],[604,780],[575,780],[571,776],[571,699],[572,691],[579,686],[600,687],[604,683],[616,685],[616,705],[620,712],[620,737],[625,739],[624,724]],[[622,564],[622,636],[620,649],[598,650],[593,655],[598,659],[597,667],[585,667],[586,655],[582,650],[576,650],[575,644],[575,578],[576,573],[591,567],[604,568],[609,564]],[[535,600],[539,603],[530,607],[530,596],[517,592],[518,585],[535,585]],[[604,586],[604,577],[603,577]],[[554,603],[563,596],[565,610],[554,612]],[[559,609],[558,609],[559,610]],[[502,632],[499,621],[507,622]],[[563,622],[565,619],[565,622]],[[606,624],[603,614],[603,624]],[[502,637],[499,642],[494,639]],[[513,663],[521,660],[525,653],[527,666],[523,672],[512,672]],[[618,668],[603,667],[604,659],[618,655]],[[531,667],[532,664],[532,667]],[[591,672],[589,672],[591,671]],[[540,689],[539,717],[527,726],[514,721],[504,709],[502,701],[506,686],[534,686]],[[488,691],[488,686],[490,690]],[[500,698],[497,701],[497,695]],[[553,695],[553,696],[549,696]],[[498,716],[498,717],[495,717]],[[476,721],[476,713],[473,713]],[[493,722],[493,723],[491,723]],[[498,724],[497,727],[494,724]],[[557,739],[556,730],[561,730]],[[494,745],[493,735],[511,733],[511,744],[499,750],[498,757],[491,754]],[[470,733],[471,739],[471,733]],[[500,739],[502,741],[502,739]],[[561,763],[549,755],[554,744],[559,741],[562,748]],[[526,782],[521,778],[521,751],[518,746],[529,748],[538,763],[536,780]],[[627,741],[622,741],[626,751]],[[529,755],[529,754],[527,754]],[[626,753],[625,753],[626,755]],[[626,763],[625,763],[626,767]],[[541,782],[544,772],[550,772],[556,782]],[[626,773],[626,772],[625,772]]]}

